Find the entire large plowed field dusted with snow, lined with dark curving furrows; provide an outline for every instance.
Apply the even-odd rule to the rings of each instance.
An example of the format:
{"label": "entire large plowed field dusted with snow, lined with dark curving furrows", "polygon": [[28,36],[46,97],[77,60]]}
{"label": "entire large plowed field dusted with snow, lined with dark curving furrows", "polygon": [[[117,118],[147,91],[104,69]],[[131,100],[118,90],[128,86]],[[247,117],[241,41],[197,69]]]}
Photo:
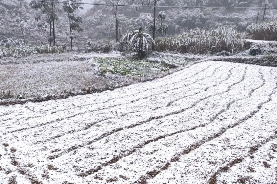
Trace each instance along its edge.
{"label": "entire large plowed field dusted with snow, lined with dark curving furrows", "polygon": [[203,62],[1,106],[0,183],[277,183],[277,68]]}

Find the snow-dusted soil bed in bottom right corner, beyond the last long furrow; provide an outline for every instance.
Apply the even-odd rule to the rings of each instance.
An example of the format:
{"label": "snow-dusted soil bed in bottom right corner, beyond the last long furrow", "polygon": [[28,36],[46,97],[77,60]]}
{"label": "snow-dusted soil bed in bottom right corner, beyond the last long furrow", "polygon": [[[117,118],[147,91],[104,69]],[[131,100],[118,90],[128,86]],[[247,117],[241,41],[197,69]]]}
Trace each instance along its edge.
{"label": "snow-dusted soil bed in bottom right corner, beyond the last long furrow", "polygon": [[[277,139],[254,149],[242,162],[228,167],[226,171],[217,175],[217,183],[271,183],[277,181]],[[254,181],[254,182],[253,182]]]}

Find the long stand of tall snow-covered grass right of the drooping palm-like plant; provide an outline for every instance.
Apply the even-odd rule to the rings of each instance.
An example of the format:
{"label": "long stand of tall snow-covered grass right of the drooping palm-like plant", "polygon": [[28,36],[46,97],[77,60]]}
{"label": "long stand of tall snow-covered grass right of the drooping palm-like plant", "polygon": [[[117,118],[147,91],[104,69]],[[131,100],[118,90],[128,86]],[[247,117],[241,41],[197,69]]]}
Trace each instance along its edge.
{"label": "long stand of tall snow-covered grass right of the drooping palm-like plant", "polygon": [[245,47],[245,33],[236,29],[219,27],[217,29],[196,28],[183,35],[170,38],[157,38],[157,51],[178,51],[181,53],[236,52]]}

